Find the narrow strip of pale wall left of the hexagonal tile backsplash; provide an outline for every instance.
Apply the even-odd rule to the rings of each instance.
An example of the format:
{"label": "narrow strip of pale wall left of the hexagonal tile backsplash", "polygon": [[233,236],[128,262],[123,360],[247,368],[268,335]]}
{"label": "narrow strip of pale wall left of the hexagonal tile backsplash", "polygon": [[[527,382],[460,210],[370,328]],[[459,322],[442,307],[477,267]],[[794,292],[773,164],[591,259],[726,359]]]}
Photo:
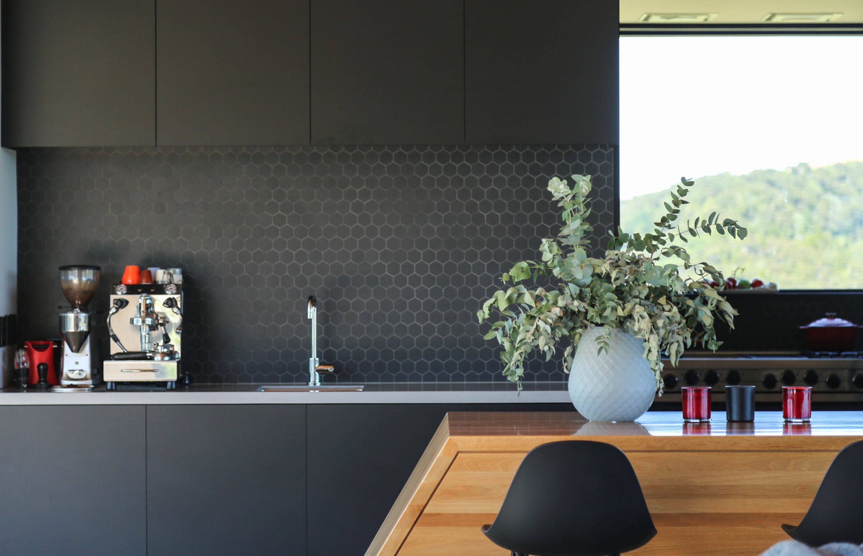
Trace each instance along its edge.
{"label": "narrow strip of pale wall left of the hexagonal tile backsplash", "polygon": [[[0,14],[0,18],[3,14]],[[0,114],[0,118],[3,115]],[[17,312],[18,191],[15,151],[0,149],[0,315]],[[0,388],[9,384],[15,346],[0,348]]]}

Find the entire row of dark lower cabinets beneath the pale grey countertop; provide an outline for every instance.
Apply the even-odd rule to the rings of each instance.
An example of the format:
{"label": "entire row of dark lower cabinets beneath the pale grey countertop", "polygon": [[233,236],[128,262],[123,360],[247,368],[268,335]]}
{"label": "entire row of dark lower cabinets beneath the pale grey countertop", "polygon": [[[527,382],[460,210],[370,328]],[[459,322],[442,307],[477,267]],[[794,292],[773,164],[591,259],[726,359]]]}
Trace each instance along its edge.
{"label": "entire row of dark lower cabinets beneath the pale grey countertop", "polygon": [[360,556],[450,411],[572,406],[2,406],[0,554]]}

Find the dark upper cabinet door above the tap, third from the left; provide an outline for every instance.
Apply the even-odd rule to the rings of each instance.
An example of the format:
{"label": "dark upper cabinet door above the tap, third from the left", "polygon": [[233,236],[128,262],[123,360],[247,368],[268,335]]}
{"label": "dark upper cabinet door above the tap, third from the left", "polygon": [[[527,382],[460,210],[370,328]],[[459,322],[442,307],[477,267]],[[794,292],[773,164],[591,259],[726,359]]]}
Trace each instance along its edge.
{"label": "dark upper cabinet door above the tap, third from the left", "polygon": [[312,0],[312,144],[464,140],[462,0]]}

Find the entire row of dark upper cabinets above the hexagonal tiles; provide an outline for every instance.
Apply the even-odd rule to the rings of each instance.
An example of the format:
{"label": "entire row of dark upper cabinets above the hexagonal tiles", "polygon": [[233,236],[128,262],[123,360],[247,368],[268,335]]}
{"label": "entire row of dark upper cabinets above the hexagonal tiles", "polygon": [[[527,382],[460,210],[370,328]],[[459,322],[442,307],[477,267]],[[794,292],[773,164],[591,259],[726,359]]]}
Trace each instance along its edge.
{"label": "entire row of dark upper cabinets above the hexagonal tiles", "polygon": [[595,0],[3,0],[3,145],[611,143]]}

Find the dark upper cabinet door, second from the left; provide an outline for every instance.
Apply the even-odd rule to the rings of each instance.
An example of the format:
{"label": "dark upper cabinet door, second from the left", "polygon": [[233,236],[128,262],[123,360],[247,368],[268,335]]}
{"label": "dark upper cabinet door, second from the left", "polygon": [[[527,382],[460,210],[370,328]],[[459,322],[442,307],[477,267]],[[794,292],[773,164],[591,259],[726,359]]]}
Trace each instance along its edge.
{"label": "dark upper cabinet door, second from the left", "polygon": [[308,0],[171,0],[157,12],[159,145],[309,143]]}

